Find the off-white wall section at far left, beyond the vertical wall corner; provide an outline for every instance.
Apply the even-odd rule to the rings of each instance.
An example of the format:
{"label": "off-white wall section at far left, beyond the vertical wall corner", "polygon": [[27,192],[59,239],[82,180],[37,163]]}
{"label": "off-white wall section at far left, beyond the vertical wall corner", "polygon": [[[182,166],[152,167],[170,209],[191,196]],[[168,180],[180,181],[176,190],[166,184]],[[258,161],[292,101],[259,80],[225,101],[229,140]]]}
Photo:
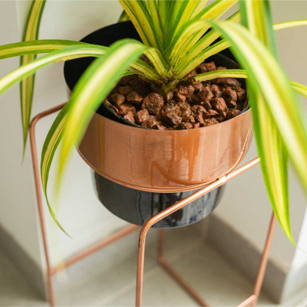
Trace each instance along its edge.
{"label": "off-white wall section at far left, beyond the vertical wall corner", "polygon": [[[0,44],[19,41],[16,3],[3,1],[0,7]],[[1,76],[18,66],[18,58],[1,60]],[[22,134],[17,86],[0,97],[0,105],[0,223],[39,263],[39,233],[29,148],[21,167]]]}

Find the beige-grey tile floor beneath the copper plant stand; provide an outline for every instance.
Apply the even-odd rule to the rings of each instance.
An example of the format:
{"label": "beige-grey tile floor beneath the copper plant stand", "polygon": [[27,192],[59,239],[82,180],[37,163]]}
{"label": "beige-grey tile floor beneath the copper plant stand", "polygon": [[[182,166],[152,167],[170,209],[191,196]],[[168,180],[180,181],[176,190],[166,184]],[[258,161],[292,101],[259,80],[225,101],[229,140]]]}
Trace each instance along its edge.
{"label": "beige-grey tile floor beneath the copper plant stand", "polygon": [[[57,274],[53,279],[56,305],[133,306],[137,235],[131,233]],[[200,236],[195,237],[185,228],[166,231],[166,258],[211,306],[238,305],[251,294],[252,282],[211,246],[202,243]],[[197,306],[158,265],[156,239],[157,231],[150,230],[143,306]],[[0,306],[48,306],[3,251],[0,251],[0,273]],[[307,297],[307,293],[301,293],[301,297]],[[307,306],[307,301],[301,300],[297,306]],[[294,303],[276,305],[261,293],[258,306],[294,306]]]}

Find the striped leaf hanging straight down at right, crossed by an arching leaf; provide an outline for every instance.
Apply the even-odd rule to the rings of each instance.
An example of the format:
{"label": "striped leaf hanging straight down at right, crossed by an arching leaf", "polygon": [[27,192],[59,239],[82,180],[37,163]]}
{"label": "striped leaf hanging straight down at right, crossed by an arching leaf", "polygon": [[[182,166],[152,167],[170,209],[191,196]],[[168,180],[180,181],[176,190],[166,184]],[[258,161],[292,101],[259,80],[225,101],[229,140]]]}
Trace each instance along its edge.
{"label": "striped leaf hanging straight down at right, crossed by an arching leaf", "polygon": [[[277,47],[272,26],[269,2],[240,3],[243,25],[253,33],[277,60]],[[247,80],[247,85],[250,80]],[[275,216],[294,244],[290,227],[288,192],[288,152],[268,108],[263,94],[248,86],[253,106],[255,138],[266,190]]]}

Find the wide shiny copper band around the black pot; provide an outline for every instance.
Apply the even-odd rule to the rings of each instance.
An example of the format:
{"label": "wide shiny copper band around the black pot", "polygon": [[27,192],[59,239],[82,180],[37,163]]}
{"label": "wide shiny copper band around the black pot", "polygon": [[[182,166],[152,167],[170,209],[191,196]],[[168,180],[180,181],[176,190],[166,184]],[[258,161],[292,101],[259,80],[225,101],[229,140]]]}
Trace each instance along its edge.
{"label": "wide shiny copper band around the black pot", "polygon": [[189,191],[233,169],[251,138],[251,110],[191,130],[151,130],[95,113],[78,151],[100,175],[152,192]]}

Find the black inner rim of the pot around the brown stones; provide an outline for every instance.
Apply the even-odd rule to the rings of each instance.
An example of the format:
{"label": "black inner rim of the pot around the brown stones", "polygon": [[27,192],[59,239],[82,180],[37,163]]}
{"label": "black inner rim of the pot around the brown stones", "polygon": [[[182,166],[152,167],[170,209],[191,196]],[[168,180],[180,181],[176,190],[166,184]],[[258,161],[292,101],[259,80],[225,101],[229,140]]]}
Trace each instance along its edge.
{"label": "black inner rim of the pot around the brown stones", "polygon": [[[106,27],[100,28],[100,29],[88,34],[87,36],[83,37],[80,41],[95,44],[95,45],[102,45],[102,44],[99,44],[99,37],[102,37],[101,33],[104,32],[104,34],[106,34],[106,33],[108,34],[107,40],[108,39],[110,40],[109,45],[111,45],[111,43],[114,41],[114,36],[112,36],[111,33],[114,33],[114,31],[116,32],[119,29],[121,30],[121,32],[123,31],[124,33],[127,34],[127,36],[125,36],[126,38],[134,38],[138,41],[141,41],[141,39],[140,39],[140,37],[139,37],[137,31],[135,30],[131,21],[123,21],[123,22],[120,22],[120,23],[115,23],[115,24],[108,25]],[[106,40],[105,35],[103,35],[103,40]],[[219,40],[220,39],[217,39],[216,41],[219,41]],[[215,44],[216,41],[214,41],[212,44]],[[222,52],[219,52],[216,55],[209,57],[208,59],[206,59],[206,61],[208,61],[208,60],[210,60],[210,59],[212,59],[213,57],[216,57],[216,56],[218,56],[222,59],[227,59],[228,61],[231,61],[234,64],[234,66],[237,66],[237,69],[240,68],[239,64],[235,62],[234,57],[232,56],[231,52],[228,49],[223,50]],[[73,66],[78,65],[79,63],[84,63],[85,60],[87,60],[90,64],[90,62],[92,60],[89,61],[88,59],[94,60],[95,58],[86,57],[86,58],[80,58],[80,59],[65,61],[65,63],[64,63],[64,79],[65,79],[65,83],[66,83],[70,92],[72,92],[73,87],[75,86],[75,84],[77,82],[75,76],[72,76],[72,74],[71,74],[71,70],[72,70]],[[242,79],[242,78],[237,78],[237,79],[239,79],[240,82],[245,84],[244,79]],[[247,102],[246,107],[235,118],[242,115],[244,112],[249,110],[249,108],[250,108],[249,103]],[[104,109],[104,110],[102,110],[102,109]],[[105,110],[107,110],[108,112],[105,112]],[[134,124],[134,123],[128,121],[127,119],[124,119],[121,115],[116,113],[113,108],[109,107],[105,101],[102,102],[101,106],[96,111],[96,113],[100,116],[104,116],[104,117],[107,117],[111,120],[115,120],[122,125],[129,125],[129,126],[133,126],[133,127],[136,127],[136,128],[149,129],[149,128],[140,126],[138,124]],[[103,114],[101,114],[101,113],[103,113]],[[106,114],[106,113],[109,113],[109,114]],[[229,120],[233,120],[233,119],[234,118],[228,119],[225,122],[227,122]],[[222,123],[223,122],[220,122],[220,123],[215,124],[215,125],[220,125]],[[197,129],[204,129],[204,128],[207,128],[207,127],[200,127],[200,128],[197,128]],[[184,131],[184,130],[173,130],[173,131],[172,130],[156,130],[156,131],[160,131],[161,133],[163,133],[165,131],[168,131],[168,132],[171,131],[172,133],[178,133],[179,131]]]}

